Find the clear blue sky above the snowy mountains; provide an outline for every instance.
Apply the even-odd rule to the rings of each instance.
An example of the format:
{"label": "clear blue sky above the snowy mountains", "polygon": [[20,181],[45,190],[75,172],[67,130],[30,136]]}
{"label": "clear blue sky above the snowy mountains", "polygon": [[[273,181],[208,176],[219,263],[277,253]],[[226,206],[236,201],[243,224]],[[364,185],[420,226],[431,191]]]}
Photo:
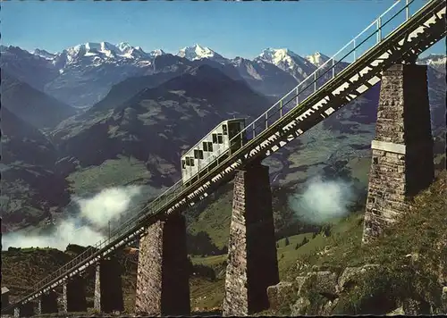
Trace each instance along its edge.
{"label": "clear blue sky above the snowy mountains", "polygon": [[[422,3],[424,0],[417,0]],[[85,42],[129,42],[177,53],[199,43],[226,57],[253,58],[266,47],[332,55],[392,0],[299,2],[1,2],[3,45],[62,51]],[[442,43],[441,43],[442,42]],[[428,53],[445,53],[441,41]]]}

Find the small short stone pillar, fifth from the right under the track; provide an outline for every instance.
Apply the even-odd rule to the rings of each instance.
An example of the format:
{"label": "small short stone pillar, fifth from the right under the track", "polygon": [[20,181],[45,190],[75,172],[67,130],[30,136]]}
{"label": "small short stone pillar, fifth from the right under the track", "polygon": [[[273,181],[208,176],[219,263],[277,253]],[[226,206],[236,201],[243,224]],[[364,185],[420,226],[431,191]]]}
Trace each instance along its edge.
{"label": "small short stone pillar, fifth from the right under the track", "polygon": [[63,312],[87,312],[85,281],[74,276],[63,284]]}

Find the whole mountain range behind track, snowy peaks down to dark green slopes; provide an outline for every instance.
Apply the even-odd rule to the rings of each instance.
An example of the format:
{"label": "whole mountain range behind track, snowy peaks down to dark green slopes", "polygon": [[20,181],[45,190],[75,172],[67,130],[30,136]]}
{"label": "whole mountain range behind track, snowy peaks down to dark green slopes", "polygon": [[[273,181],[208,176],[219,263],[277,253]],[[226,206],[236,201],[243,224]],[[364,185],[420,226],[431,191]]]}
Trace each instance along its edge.
{"label": "whole mountain range behind track, snowy peaks down to dark green slopes", "polygon": [[[14,46],[1,53],[6,230],[63,210],[71,195],[127,184],[156,193],[172,185],[182,152],[198,138],[233,116],[256,118],[329,59],[272,48],[253,60],[227,59],[198,45],[146,53],[106,42],[58,54]],[[434,135],[442,145],[445,56],[418,63],[429,65]],[[274,185],[294,187],[324,174],[365,188],[379,88],[268,157]]]}

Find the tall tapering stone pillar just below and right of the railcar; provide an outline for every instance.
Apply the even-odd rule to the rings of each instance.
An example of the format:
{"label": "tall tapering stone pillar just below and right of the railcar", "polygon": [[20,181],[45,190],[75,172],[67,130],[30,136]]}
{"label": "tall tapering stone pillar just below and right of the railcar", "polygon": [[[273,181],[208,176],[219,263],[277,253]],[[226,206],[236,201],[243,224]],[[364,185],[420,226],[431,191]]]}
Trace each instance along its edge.
{"label": "tall tapering stone pillar just below and right of the railcar", "polygon": [[223,315],[268,308],[267,287],[278,282],[268,167],[254,163],[234,178]]}

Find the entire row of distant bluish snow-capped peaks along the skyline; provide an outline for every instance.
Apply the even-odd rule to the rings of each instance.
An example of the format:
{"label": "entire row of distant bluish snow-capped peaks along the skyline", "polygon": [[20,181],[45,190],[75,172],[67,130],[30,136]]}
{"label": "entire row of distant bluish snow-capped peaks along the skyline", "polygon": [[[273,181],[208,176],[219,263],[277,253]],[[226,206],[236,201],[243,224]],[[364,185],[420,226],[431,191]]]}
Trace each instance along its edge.
{"label": "entire row of distant bluish snow-capped peaks along the skyline", "polygon": [[[232,79],[241,77],[257,92],[281,96],[330,59],[319,52],[302,57],[287,48],[266,48],[253,60],[227,59],[198,44],[173,55],[161,49],[145,52],[140,46],[125,42],[87,42],[58,53],[43,49],[30,53],[16,46],[1,46],[0,52],[0,67],[14,78],[75,107],[96,104],[124,79],[157,72],[176,73],[189,67],[190,62],[223,67]],[[445,55],[432,54],[418,63],[445,74],[445,62]],[[340,63],[338,71],[347,65]]]}

